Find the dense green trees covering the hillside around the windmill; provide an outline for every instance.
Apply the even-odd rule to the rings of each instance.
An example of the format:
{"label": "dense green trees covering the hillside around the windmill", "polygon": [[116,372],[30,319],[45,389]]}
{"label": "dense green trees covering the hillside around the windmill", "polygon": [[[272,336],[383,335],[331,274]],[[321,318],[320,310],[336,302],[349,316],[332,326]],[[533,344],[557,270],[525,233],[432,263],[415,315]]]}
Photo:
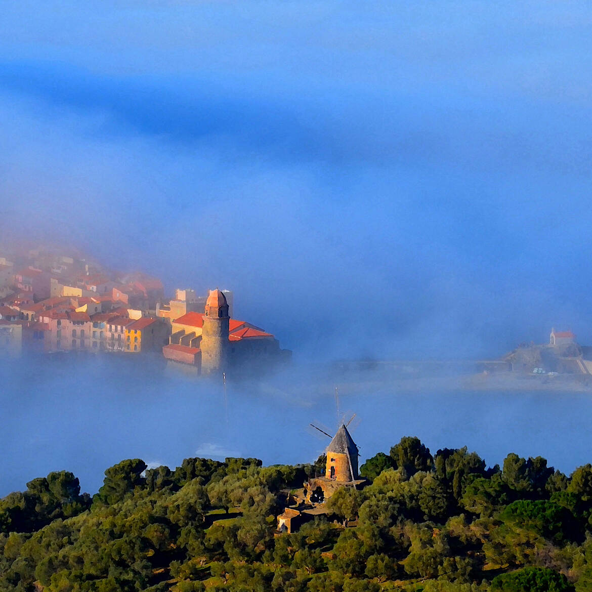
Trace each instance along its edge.
{"label": "dense green trees covering the hillside around the windmill", "polygon": [[34,479],[0,500],[0,592],[592,590],[592,465],[488,469],[405,437],[362,465],[365,487],[279,534],[321,465],[129,459],[92,499],[67,471]]}

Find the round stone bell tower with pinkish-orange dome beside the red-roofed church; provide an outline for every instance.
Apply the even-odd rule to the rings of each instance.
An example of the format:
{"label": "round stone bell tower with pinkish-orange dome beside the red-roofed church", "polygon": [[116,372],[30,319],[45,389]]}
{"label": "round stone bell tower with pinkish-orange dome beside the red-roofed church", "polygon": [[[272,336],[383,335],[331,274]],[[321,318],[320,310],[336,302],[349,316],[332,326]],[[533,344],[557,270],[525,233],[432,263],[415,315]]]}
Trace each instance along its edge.
{"label": "round stone bell tower with pinkish-orange dome beside the red-roofed church", "polygon": [[210,290],[205,303],[204,325],[201,330],[201,372],[223,372],[228,363],[229,352],[228,303],[219,290]]}

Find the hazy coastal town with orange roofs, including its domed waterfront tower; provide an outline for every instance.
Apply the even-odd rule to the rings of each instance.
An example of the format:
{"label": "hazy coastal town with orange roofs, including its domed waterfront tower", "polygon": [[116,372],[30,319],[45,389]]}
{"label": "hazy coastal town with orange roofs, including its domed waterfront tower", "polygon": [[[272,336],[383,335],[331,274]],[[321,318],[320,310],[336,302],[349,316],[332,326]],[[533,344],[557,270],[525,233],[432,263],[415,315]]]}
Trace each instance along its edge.
{"label": "hazy coastal town with orange roofs, including its domed waterfront tower", "polygon": [[176,289],[50,247],[0,252],[0,355],[152,355],[195,374],[289,359],[274,335],[233,317],[233,292]]}

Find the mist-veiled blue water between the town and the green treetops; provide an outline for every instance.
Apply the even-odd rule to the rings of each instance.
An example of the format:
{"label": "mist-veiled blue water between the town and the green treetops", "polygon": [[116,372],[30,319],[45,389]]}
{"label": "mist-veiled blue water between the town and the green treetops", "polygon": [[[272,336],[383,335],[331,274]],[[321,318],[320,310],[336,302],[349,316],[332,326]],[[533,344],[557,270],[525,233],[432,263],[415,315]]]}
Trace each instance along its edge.
{"label": "mist-veiled blue water between the town and the green treetops", "polygon": [[335,429],[336,385],[340,413],[356,413],[361,462],[407,435],[432,452],[466,445],[492,466],[509,452],[544,456],[568,473],[592,461],[587,392],[478,391],[297,365],[229,381],[225,400],[222,384],[138,358],[24,359],[0,371],[0,496],[62,469],[95,493],[104,470],[125,458],[171,468],[191,456],[312,462],[329,439],[308,424]]}

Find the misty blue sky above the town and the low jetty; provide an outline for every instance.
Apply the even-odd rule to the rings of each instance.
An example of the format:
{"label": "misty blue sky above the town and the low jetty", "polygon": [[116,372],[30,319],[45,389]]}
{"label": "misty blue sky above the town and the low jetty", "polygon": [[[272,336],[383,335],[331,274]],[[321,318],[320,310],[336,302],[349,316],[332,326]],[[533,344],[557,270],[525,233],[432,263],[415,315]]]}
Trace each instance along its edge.
{"label": "misty blue sky above the town and the low jetty", "polygon": [[3,2],[0,233],[303,358],[592,343],[585,2]]}

